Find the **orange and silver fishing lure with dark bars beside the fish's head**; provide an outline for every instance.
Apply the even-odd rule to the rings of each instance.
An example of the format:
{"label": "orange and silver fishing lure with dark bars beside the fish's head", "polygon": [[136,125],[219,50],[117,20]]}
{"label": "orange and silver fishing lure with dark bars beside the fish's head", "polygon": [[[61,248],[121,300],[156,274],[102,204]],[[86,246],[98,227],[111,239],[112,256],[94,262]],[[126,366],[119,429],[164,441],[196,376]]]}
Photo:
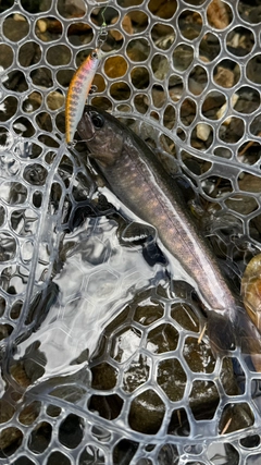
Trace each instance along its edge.
{"label": "orange and silver fishing lure with dark bars beside the fish's head", "polygon": [[65,103],[65,137],[67,144],[73,142],[91,83],[103,54],[99,48],[92,50],[70,83]]}

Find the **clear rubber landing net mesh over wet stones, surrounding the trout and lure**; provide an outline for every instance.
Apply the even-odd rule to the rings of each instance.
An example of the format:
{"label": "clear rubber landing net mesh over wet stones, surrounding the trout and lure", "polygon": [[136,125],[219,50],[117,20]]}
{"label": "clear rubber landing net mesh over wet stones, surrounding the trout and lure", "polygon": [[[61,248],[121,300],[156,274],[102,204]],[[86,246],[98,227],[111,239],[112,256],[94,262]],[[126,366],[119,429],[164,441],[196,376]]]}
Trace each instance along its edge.
{"label": "clear rubber landing net mesh over wet stones, surrounding the trout and lure", "polygon": [[[104,4],[0,2],[0,463],[258,464],[251,357],[198,343],[190,286],[174,296],[164,260],[122,242],[83,144],[62,144]],[[238,290],[260,249],[260,2],[117,0],[104,17],[89,101],[179,179]]]}

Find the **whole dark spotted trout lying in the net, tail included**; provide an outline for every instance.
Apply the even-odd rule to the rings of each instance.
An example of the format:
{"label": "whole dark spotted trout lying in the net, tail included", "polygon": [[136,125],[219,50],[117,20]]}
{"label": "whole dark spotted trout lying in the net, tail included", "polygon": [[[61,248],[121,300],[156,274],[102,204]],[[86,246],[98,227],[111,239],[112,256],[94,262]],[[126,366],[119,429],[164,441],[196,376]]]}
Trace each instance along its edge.
{"label": "whole dark spotted trout lying in the net, tail included", "polygon": [[85,107],[77,131],[114,195],[140,220],[156,228],[174,278],[178,270],[178,279],[182,276],[192,285],[211,313],[216,345],[220,347],[227,340],[226,348],[235,346],[234,329],[239,325],[239,338],[245,342],[252,339],[247,350],[261,353],[259,333],[199,234],[175,180],[153,151],[116,118],[92,106]]}

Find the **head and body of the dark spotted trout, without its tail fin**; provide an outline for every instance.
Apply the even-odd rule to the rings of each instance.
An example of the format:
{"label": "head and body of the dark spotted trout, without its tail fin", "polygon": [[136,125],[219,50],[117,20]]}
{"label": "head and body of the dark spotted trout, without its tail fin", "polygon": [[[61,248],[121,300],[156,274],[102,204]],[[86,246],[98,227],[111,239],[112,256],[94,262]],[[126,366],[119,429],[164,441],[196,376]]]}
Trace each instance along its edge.
{"label": "head and body of the dark spotted trout, without its tail fin", "polygon": [[[234,298],[213,257],[186,212],[177,186],[171,185],[152,150],[114,117],[86,106],[78,124],[90,158],[122,203],[146,223],[153,224],[164,247],[201,289],[207,306],[227,310]],[[178,198],[177,198],[178,195]]]}

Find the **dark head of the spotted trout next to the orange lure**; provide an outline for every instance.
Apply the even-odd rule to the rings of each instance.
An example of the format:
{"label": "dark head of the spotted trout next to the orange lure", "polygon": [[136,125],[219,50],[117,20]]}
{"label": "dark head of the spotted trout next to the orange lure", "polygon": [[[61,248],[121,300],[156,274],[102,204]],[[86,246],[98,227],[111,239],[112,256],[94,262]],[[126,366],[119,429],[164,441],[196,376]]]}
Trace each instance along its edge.
{"label": "dark head of the spotted trout next to the orange lure", "polygon": [[124,127],[116,118],[87,105],[77,126],[80,138],[102,168],[112,167],[121,157],[124,145]]}

